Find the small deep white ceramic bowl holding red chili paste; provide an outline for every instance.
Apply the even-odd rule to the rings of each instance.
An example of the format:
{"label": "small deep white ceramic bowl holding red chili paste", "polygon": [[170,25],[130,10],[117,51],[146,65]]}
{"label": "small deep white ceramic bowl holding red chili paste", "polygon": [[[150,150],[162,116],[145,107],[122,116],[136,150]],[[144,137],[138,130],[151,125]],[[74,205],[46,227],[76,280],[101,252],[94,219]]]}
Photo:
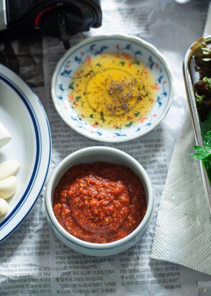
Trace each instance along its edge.
{"label": "small deep white ceramic bowl holding red chili paste", "polygon": [[[139,226],[128,236],[110,243],[90,243],[82,241],[69,234],[57,221],[53,213],[53,192],[60,178],[74,165],[81,163],[107,162],[122,164],[131,168],[142,181],[144,186],[147,211]],[[88,147],[80,149],[59,163],[48,180],[45,191],[45,210],[48,222],[55,235],[71,249],[82,254],[91,256],[108,256],[127,250],[132,247],[142,235],[147,231],[154,213],[155,197],[154,190],[144,168],[130,155],[119,149],[111,147]]]}

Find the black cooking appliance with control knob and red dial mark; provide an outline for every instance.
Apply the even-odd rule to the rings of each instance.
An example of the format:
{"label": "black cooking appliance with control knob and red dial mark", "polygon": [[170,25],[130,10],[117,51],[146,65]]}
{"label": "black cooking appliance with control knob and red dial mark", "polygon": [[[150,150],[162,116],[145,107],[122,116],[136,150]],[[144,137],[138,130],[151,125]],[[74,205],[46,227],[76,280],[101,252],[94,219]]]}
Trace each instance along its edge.
{"label": "black cooking appliance with control knob and red dial mark", "polygon": [[0,0],[0,41],[58,37],[69,48],[69,38],[102,22],[100,0]]}

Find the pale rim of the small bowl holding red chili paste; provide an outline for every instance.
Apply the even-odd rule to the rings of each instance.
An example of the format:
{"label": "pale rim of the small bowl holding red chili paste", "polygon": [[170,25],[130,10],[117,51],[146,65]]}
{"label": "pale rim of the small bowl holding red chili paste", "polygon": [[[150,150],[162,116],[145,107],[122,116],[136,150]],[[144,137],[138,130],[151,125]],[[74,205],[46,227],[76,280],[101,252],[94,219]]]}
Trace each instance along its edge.
{"label": "pale rim of the small bowl holding red chili paste", "polygon": [[[137,228],[134,229],[134,231],[132,231],[129,235],[127,235],[122,239],[119,239],[114,242],[102,243],[102,244],[86,242],[81,239],[78,239],[77,237],[74,237],[72,234],[69,234],[57,221],[56,216],[53,213],[53,206],[52,206],[53,195],[51,194],[52,190],[54,190],[54,188],[58,184],[61,176],[63,176],[66,170],[71,167],[70,162],[72,159],[74,159],[75,157],[79,157],[81,154],[87,153],[87,152],[95,153],[98,151],[99,153],[99,149],[101,149],[100,150],[101,153],[105,151],[110,151],[110,152],[116,153],[116,155],[119,154],[121,157],[126,157],[128,162],[131,162],[133,165],[135,165],[141,172],[141,176],[143,177],[144,183],[145,183],[143,185],[146,186],[147,194],[148,194],[147,211],[145,213],[143,220],[137,226]],[[93,163],[93,162],[90,162],[90,163]],[[60,177],[57,178],[57,182],[55,183],[56,177],[58,174],[60,175]],[[150,178],[147,175],[147,172],[145,171],[145,169],[142,167],[142,165],[126,152],[113,147],[106,147],[106,146],[105,147],[104,146],[86,147],[86,148],[79,149],[71,153],[70,155],[66,156],[59,163],[59,165],[57,165],[57,167],[54,169],[53,173],[51,174],[50,178],[48,179],[44,200],[45,200],[45,208],[46,208],[47,216],[50,219],[52,225],[55,227],[55,229],[59,232],[59,234],[65,239],[67,239],[68,241],[70,241],[72,244],[78,245],[80,247],[84,247],[86,249],[93,249],[93,250],[106,250],[106,249],[110,250],[130,242],[132,239],[134,239],[134,237],[136,237],[140,233],[142,229],[144,229],[145,225],[148,224],[152,216],[152,212],[154,212],[154,205],[155,205],[154,189],[150,181]]]}

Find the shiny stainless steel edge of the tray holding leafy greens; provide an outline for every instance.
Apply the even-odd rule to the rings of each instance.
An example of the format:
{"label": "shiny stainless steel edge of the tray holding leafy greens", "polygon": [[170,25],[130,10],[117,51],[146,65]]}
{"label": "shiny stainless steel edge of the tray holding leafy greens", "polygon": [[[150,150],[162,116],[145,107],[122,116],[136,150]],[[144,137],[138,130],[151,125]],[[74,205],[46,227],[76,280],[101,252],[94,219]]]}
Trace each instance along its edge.
{"label": "shiny stainless steel edge of the tray holding leafy greens", "polygon": [[[209,46],[209,44],[211,44],[211,35],[206,36],[204,38],[206,40],[207,45]],[[202,125],[199,118],[196,99],[195,99],[195,93],[194,93],[194,84],[197,81],[199,81],[199,74],[194,70],[195,62],[194,62],[193,52],[191,51],[190,47],[184,56],[183,76],[185,81],[187,99],[189,104],[191,122],[193,126],[196,145],[204,147],[204,142],[202,139]],[[200,161],[200,168],[202,172],[202,180],[204,184],[204,192],[206,196],[207,208],[208,208],[210,221],[211,221],[211,186],[207,176],[207,172],[204,169],[204,166],[202,165],[201,161]]]}

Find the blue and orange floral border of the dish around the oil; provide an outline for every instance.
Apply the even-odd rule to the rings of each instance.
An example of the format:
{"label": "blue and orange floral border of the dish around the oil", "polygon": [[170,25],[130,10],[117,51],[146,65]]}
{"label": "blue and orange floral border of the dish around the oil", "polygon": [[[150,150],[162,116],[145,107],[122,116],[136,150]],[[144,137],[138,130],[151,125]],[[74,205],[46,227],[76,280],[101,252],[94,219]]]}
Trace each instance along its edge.
{"label": "blue and orange floral border of the dish around the oil", "polygon": [[[92,56],[99,56],[100,60],[106,52],[114,52],[119,55],[120,63],[123,66],[126,60],[129,60],[131,65],[139,65],[141,59],[145,62],[142,71],[147,71],[147,69],[153,71],[156,78],[153,88],[157,90],[158,94],[155,99],[156,107],[147,115],[139,115],[137,112],[138,125],[131,121],[124,128],[110,130],[90,126],[79,118],[74,109],[65,104],[69,90],[76,91],[74,88],[76,77],[74,75],[76,75],[78,65],[82,63],[89,65]],[[55,90],[54,93],[52,92],[53,102],[65,122],[79,133],[99,141],[126,141],[142,136],[160,123],[173,99],[171,71],[163,56],[154,46],[140,38],[120,35],[90,38],[70,49],[57,66],[52,80],[52,88]],[[79,100],[80,98],[81,96],[76,94],[74,99]]]}

